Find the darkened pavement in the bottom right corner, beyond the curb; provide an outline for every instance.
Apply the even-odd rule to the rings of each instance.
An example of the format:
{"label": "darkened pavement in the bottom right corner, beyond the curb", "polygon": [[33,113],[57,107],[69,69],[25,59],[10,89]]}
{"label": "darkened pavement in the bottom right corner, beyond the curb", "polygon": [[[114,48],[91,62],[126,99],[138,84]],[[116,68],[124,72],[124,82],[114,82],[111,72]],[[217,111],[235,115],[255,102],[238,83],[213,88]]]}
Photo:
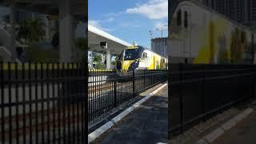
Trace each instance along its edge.
{"label": "darkened pavement in the bottom right corner, beyond the curb", "polygon": [[[252,106],[256,110],[256,105]],[[251,144],[256,143],[256,112],[254,111],[228,133],[218,138],[214,144]]]}

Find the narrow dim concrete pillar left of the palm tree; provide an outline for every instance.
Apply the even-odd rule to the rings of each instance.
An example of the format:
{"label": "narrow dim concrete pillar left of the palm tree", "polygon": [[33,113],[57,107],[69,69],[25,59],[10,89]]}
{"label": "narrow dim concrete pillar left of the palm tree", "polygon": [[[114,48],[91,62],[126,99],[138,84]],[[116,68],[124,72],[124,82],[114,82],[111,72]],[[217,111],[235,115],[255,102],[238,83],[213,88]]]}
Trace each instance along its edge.
{"label": "narrow dim concrete pillar left of the palm tree", "polygon": [[11,53],[11,61],[15,62],[17,58],[17,51],[15,46],[15,3],[10,3],[10,53]]}

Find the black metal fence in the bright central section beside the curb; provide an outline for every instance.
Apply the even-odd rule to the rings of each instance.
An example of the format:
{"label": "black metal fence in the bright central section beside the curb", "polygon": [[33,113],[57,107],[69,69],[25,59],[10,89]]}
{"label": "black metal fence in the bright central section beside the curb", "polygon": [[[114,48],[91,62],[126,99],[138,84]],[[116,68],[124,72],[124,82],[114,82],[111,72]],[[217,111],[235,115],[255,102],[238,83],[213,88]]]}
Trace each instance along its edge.
{"label": "black metal fence in the bright central section beside the curb", "polygon": [[90,70],[89,118],[106,114],[138,93],[167,79],[167,70],[135,70],[129,74],[118,74],[115,70]]}

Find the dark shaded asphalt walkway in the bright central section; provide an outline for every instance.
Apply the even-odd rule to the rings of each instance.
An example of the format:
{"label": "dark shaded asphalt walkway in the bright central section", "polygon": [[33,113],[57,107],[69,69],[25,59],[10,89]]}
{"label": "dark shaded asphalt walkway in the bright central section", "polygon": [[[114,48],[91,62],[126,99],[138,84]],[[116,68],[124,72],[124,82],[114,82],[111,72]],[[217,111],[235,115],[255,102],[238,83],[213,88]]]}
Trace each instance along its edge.
{"label": "dark shaded asphalt walkway in the bright central section", "polygon": [[167,86],[134,110],[118,127],[110,130],[103,144],[167,143]]}

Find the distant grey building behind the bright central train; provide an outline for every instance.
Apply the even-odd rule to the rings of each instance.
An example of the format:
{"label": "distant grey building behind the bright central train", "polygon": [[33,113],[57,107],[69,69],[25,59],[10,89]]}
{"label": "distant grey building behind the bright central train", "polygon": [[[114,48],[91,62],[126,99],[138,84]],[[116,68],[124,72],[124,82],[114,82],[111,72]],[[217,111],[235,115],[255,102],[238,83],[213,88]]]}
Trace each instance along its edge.
{"label": "distant grey building behind the bright central train", "polygon": [[167,57],[167,38],[151,39],[151,50],[163,57]]}

